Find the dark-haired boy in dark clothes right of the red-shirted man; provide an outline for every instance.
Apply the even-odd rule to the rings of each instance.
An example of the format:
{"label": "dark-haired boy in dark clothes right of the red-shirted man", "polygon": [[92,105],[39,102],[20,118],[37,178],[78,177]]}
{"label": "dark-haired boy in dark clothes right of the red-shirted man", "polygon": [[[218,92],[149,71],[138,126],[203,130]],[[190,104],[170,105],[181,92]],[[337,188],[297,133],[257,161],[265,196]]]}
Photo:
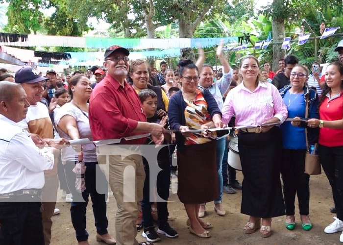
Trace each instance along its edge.
{"label": "dark-haired boy in dark clothes right of the red-shirted man", "polygon": [[[141,90],[138,94],[139,98],[141,99],[143,108],[145,110],[147,116],[147,122],[149,123],[160,123],[161,125],[165,126],[167,123],[167,116],[163,117],[162,120],[157,120],[152,122],[156,109],[157,109],[157,95],[154,91],[150,89]],[[165,134],[165,138],[169,138],[170,135]],[[148,139],[147,144],[150,144],[151,139]],[[167,144],[166,140],[164,144]],[[144,170],[146,172],[146,179],[144,181],[144,188],[143,188],[143,200],[142,200],[142,212],[143,212],[143,220],[142,224],[144,227],[144,231],[142,236],[147,239],[148,242],[157,242],[160,241],[161,238],[159,234],[163,234],[169,238],[178,237],[177,232],[169,225],[168,223],[168,207],[167,201],[169,197],[169,186],[170,186],[170,152],[169,147],[162,147],[157,155],[157,163],[158,167],[162,170],[158,173],[156,186],[150,186],[150,178],[149,178],[149,164],[147,159],[143,157],[143,164]],[[153,166],[153,163],[150,163],[150,166]],[[158,196],[163,198],[165,201],[157,202],[157,213],[158,213],[158,230],[157,233],[153,226],[153,220],[151,216],[151,203],[150,202],[150,190],[157,190]],[[155,196],[155,195],[154,195]]]}

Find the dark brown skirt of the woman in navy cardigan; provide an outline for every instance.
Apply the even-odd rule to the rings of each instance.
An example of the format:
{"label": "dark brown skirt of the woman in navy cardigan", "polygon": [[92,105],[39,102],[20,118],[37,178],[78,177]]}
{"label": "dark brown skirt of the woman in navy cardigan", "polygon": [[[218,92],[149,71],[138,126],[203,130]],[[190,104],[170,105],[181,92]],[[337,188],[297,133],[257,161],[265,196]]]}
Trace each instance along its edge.
{"label": "dark brown skirt of the woman in navy cardigan", "polygon": [[178,190],[182,203],[206,203],[219,196],[217,141],[201,145],[185,146],[185,151],[177,151]]}

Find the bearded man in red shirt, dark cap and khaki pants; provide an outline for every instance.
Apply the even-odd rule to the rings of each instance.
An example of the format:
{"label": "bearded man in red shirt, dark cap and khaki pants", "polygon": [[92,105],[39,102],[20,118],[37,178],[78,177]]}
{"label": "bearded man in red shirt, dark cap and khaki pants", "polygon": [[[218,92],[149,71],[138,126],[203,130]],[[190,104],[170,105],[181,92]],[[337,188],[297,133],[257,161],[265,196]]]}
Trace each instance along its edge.
{"label": "bearded man in red shirt, dark cap and khaki pants", "polygon": [[[89,104],[89,121],[94,140],[120,139],[137,134],[150,133],[156,145],[164,141],[164,128],[156,123],[147,123],[146,115],[135,90],[126,82],[129,70],[128,55],[130,52],[120,46],[111,46],[105,51],[104,67],[107,74],[94,88]],[[125,141],[121,145],[143,145],[147,138]],[[101,152],[104,147],[99,147]],[[128,156],[122,160],[117,152],[108,156],[109,184],[117,201],[116,237],[119,245],[137,245],[136,221],[138,206],[143,199],[145,172],[142,156],[132,152],[124,146],[122,153]],[[136,148],[136,147],[135,147]],[[98,162],[103,159],[98,156]],[[135,175],[125,171],[125,180],[134,179],[135,196],[124,200],[124,170],[129,166],[135,170]],[[130,169],[128,168],[128,169]],[[132,172],[131,172],[132,173]],[[128,176],[129,175],[129,176]],[[128,186],[125,186],[125,190]],[[134,200],[134,201],[132,201]],[[151,243],[142,243],[145,245]]]}

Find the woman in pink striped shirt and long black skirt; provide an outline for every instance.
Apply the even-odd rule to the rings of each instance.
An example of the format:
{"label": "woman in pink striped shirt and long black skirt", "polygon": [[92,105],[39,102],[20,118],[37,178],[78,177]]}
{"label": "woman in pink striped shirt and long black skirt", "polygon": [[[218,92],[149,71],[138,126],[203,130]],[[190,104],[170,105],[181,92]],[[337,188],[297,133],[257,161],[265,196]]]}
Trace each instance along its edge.
{"label": "woman in pink striped shirt and long black skirt", "polygon": [[228,93],[222,121],[228,123],[235,115],[236,126],[253,127],[238,134],[244,174],[241,213],[250,216],[245,233],[261,227],[261,236],[269,237],[271,218],[285,215],[280,182],[281,133],[276,126],[259,125],[284,121],[288,112],[277,88],[261,82],[254,56],[242,59],[240,73],[243,82]]}

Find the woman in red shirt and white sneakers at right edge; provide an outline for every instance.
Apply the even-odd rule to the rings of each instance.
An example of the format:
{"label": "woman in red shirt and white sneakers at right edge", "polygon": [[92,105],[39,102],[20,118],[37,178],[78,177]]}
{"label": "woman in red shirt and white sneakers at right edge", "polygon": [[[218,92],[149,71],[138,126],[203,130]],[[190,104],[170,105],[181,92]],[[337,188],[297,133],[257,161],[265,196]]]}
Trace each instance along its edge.
{"label": "woman in red shirt and white sneakers at right edge", "polygon": [[[325,85],[319,100],[319,119],[308,126],[319,127],[319,160],[328,178],[337,211],[325,233],[343,231],[343,63],[331,63],[325,72]],[[340,236],[343,242],[343,233]]]}

